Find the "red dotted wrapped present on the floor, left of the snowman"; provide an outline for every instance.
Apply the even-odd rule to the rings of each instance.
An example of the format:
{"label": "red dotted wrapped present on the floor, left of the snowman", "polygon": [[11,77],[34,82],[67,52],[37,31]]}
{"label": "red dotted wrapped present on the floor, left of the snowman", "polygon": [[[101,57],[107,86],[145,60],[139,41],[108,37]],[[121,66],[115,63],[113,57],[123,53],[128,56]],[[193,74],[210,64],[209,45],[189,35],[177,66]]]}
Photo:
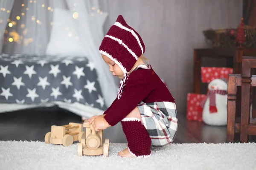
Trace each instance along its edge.
{"label": "red dotted wrapped present on the floor, left of the snowman", "polygon": [[188,120],[196,120],[203,122],[202,112],[198,112],[198,106],[205,99],[205,94],[187,94],[187,114],[186,117]]}

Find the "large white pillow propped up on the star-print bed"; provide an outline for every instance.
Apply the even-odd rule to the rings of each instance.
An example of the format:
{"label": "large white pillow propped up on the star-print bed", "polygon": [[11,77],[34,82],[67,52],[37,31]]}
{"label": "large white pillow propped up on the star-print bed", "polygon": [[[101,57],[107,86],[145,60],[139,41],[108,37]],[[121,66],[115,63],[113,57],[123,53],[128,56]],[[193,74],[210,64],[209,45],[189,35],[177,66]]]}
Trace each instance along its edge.
{"label": "large white pillow propped up on the star-print bed", "polygon": [[86,56],[85,48],[79,40],[73,13],[59,8],[55,8],[53,12],[53,26],[46,54]]}

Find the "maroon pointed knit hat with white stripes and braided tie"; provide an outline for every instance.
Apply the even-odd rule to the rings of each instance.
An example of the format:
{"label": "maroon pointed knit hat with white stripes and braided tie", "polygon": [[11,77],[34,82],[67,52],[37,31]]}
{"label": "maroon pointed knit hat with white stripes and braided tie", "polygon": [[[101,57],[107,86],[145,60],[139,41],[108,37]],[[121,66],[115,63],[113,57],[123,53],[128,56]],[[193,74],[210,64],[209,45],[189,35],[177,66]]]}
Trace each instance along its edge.
{"label": "maroon pointed knit hat with white stripes and braided tie", "polygon": [[119,85],[118,99],[128,79],[128,72],[144,52],[145,45],[140,35],[128,26],[122,15],[119,15],[99,46],[99,53],[115,62],[124,74]]}

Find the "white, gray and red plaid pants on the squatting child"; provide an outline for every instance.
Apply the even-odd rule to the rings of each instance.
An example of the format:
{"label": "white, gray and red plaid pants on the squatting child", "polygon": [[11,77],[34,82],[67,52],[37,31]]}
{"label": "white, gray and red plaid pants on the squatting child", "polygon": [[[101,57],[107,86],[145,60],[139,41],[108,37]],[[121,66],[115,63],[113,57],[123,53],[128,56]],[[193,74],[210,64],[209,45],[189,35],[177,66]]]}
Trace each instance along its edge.
{"label": "white, gray and red plaid pants on the squatting child", "polygon": [[140,102],[142,124],[151,138],[152,147],[164,147],[175,139],[178,127],[177,110],[172,102]]}

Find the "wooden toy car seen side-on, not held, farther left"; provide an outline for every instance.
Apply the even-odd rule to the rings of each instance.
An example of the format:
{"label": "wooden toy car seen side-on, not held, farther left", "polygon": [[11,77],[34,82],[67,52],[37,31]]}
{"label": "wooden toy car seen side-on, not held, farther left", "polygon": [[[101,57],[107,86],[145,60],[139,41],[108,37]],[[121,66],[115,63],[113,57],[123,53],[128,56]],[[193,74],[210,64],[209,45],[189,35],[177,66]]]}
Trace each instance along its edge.
{"label": "wooden toy car seen side-on, not held, farther left", "polygon": [[69,123],[68,125],[55,126],[52,125],[51,132],[47,132],[44,141],[49,144],[63,144],[63,146],[70,146],[74,141],[81,142],[85,139],[85,132],[81,123]]}

